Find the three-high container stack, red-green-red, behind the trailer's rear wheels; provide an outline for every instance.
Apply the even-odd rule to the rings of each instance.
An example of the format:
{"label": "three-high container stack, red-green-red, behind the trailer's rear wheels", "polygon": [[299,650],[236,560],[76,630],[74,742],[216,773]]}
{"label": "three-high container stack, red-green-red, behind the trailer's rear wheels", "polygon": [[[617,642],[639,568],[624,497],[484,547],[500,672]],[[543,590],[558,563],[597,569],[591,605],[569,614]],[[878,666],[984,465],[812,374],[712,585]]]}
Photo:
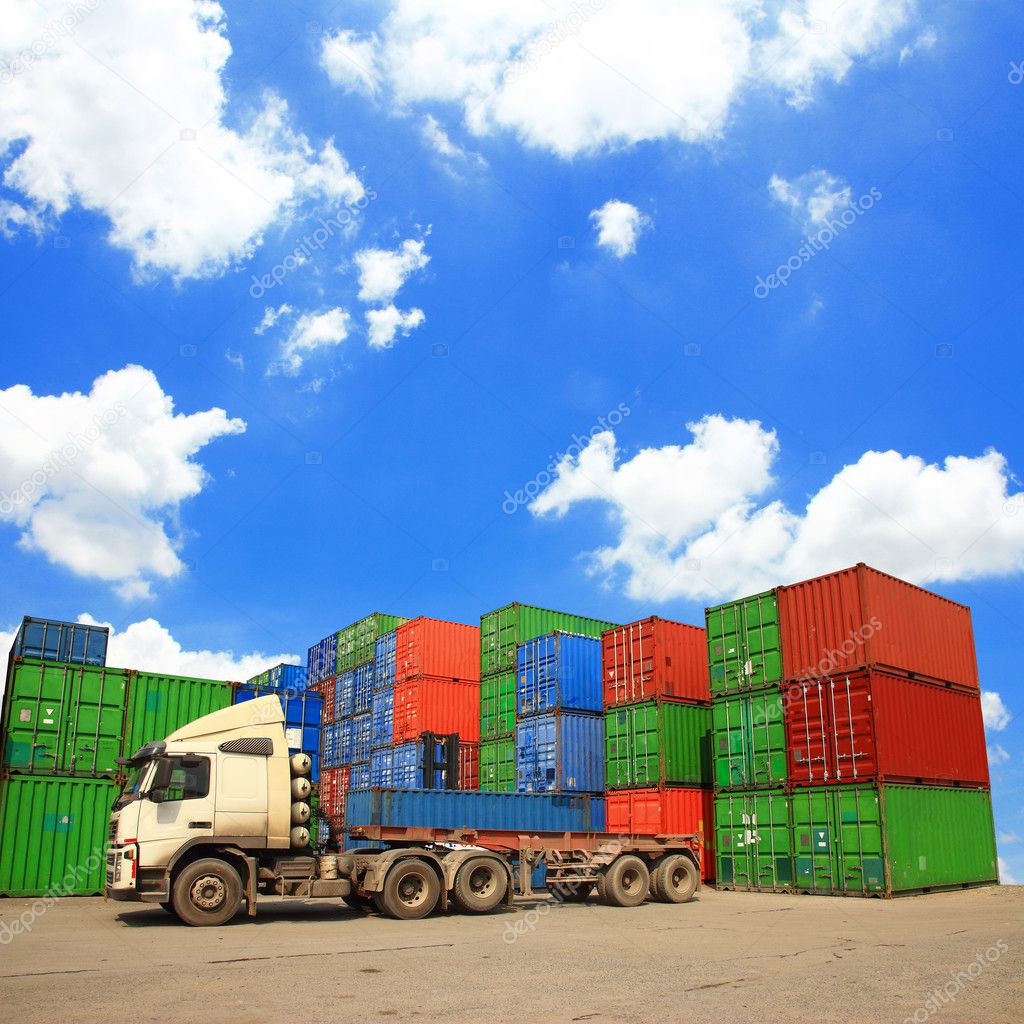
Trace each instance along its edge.
{"label": "three-high container stack, red-green-red, behind the trailer's rear wheels", "polygon": [[705,837],[715,876],[705,631],[650,617],[601,637],[608,829]]}

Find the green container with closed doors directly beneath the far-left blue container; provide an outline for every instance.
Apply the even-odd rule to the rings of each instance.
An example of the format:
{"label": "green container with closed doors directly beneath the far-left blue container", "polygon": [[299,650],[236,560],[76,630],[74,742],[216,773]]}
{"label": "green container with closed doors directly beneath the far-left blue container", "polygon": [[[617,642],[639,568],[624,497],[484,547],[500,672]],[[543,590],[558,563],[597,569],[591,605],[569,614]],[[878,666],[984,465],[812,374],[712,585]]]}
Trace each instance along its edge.
{"label": "green container with closed doors directly beneath the far-left blue container", "polygon": [[58,662],[15,662],[8,674],[7,771],[114,775],[122,755],[128,672]]}

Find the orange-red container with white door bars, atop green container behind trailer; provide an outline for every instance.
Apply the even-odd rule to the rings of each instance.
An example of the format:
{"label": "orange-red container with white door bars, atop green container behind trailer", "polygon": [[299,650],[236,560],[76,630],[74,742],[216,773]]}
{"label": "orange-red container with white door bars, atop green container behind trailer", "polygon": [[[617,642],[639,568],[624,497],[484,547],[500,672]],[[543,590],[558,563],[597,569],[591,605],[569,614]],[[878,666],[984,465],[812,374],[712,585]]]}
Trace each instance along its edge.
{"label": "orange-red container with white door bars, atop green container behind trailer", "polygon": [[708,645],[699,626],[652,615],[601,634],[604,707],[651,697],[710,700]]}

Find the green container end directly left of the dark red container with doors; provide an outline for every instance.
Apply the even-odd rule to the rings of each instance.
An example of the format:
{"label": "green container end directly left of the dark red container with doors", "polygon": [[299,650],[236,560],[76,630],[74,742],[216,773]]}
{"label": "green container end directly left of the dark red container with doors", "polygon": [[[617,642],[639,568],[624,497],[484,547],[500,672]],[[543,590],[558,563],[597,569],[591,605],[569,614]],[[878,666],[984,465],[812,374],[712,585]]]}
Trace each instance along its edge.
{"label": "green container end directly left of the dark red container with doors", "polygon": [[715,697],[712,759],[719,790],[770,790],[785,782],[785,716],[777,686]]}

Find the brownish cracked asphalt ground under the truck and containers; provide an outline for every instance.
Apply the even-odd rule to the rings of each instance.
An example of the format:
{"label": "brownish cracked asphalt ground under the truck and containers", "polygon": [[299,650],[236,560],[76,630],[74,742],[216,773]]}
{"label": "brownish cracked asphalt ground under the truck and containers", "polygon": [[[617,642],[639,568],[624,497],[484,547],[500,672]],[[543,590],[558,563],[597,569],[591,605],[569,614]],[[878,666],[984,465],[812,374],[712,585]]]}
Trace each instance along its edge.
{"label": "brownish cracked asphalt ground under the truck and containers", "polygon": [[[3,1017],[18,1024],[1024,1019],[1021,887],[889,901],[706,889],[632,910],[534,898],[422,922],[275,899],[216,929],[99,898],[40,909],[0,900]],[[11,937],[18,919],[31,930]]]}

